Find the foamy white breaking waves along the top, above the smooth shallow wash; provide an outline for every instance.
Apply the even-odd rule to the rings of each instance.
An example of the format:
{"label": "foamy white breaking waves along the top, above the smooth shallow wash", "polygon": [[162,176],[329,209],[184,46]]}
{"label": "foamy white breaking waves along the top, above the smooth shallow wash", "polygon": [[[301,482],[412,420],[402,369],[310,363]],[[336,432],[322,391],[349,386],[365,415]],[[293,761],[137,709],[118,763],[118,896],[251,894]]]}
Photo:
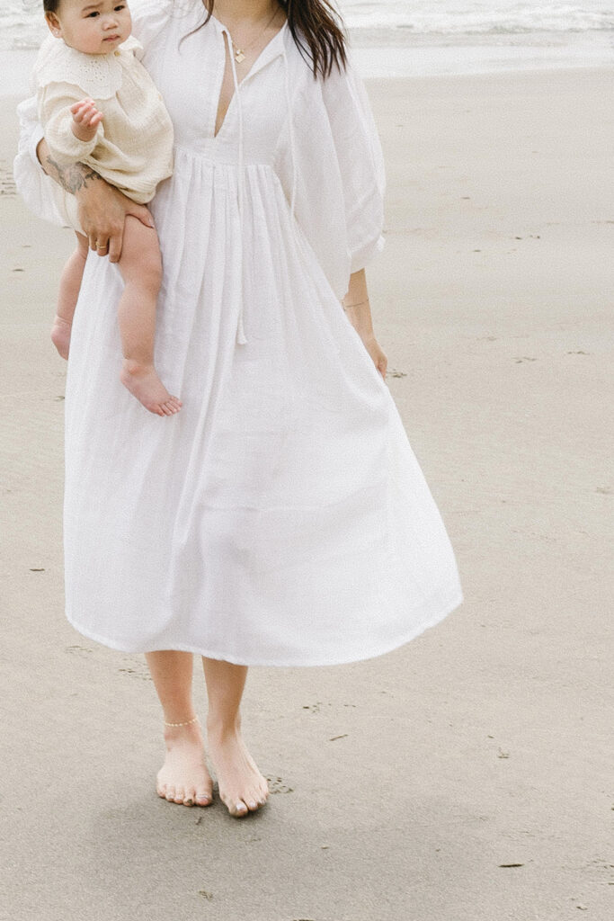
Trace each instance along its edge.
{"label": "foamy white breaking waves along the top, above the smooth shallow wash", "polygon": [[[614,30],[614,0],[340,0],[350,29],[406,35],[505,35]],[[44,34],[41,0],[2,0],[0,48],[36,47]]]}

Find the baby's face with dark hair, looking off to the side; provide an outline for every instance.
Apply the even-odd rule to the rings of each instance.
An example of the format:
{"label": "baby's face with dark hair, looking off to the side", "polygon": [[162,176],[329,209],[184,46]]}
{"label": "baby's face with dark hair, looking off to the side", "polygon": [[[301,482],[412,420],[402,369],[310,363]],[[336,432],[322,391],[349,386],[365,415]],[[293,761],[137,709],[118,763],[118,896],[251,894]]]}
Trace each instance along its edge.
{"label": "baby's face with dark hair, looking off to the side", "polygon": [[133,23],[121,0],[61,0],[57,13],[47,13],[53,35],[77,52],[109,54],[129,37]]}

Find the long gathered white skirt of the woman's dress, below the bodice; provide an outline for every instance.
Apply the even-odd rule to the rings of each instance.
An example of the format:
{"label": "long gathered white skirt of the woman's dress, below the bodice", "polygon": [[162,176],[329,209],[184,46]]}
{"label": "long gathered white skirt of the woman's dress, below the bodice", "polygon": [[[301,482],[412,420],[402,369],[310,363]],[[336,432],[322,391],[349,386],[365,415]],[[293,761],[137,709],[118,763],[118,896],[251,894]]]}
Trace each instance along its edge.
{"label": "long gathered white skirt of the woman's dress, below the bodice", "polygon": [[458,607],[455,556],[272,169],[245,169],[242,221],[236,201],[236,167],[179,148],[152,204],[156,367],[175,416],[122,387],[122,278],[87,259],[65,402],[67,616],[128,652],[366,659]]}

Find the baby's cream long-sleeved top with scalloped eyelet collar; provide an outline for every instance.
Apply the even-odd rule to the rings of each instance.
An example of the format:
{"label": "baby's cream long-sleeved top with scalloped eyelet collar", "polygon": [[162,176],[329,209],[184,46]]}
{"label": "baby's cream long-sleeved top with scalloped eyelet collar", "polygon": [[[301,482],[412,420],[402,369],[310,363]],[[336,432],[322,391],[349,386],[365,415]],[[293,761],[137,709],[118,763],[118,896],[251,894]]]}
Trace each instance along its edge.
{"label": "baby's cream long-sleeved top with scalloped eyelet collar", "polygon": [[[80,161],[138,204],[151,201],[173,167],[173,126],[132,37],[109,54],[85,54],[49,36],[34,68],[39,116],[51,156]],[[94,99],[104,119],[91,141],[71,129],[70,107]]]}

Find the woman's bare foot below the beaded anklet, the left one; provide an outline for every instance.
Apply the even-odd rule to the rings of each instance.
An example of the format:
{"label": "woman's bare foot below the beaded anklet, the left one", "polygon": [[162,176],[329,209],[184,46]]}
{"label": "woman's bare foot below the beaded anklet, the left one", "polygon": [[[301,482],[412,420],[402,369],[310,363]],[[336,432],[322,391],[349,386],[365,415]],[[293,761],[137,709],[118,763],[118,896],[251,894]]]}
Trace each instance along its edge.
{"label": "woman's bare foot below the beaded anklet, the left one", "polygon": [[156,778],[156,793],[184,806],[210,806],[213,782],[204,760],[199,723],[164,728],[167,756]]}

